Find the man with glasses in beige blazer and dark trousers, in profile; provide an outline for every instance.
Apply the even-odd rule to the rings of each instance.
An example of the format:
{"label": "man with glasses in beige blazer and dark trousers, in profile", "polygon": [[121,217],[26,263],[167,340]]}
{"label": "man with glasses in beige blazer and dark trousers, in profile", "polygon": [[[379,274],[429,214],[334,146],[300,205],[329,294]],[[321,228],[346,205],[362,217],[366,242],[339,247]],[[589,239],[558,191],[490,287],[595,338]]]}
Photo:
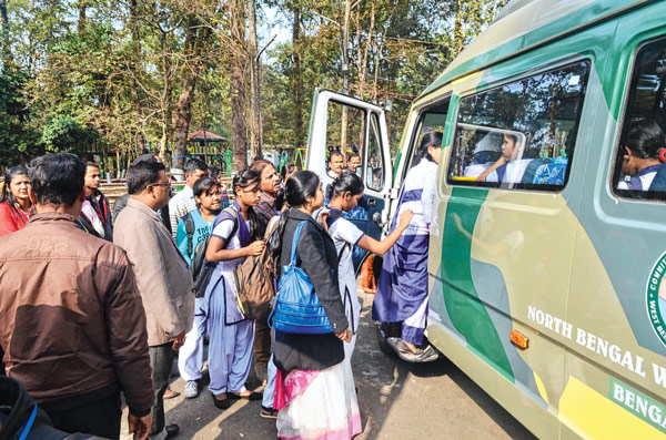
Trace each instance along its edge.
{"label": "man with glasses in beige blazer and dark trousers, in profile", "polygon": [[118,215],[113,243],[125,249],[137,275],[148,319],[148,345],[155,403],[151,437],[171,438],[176,424],[165,427],[164,391],[171,366],[194,319],[192,277],[185,259],[157,211],[169,202],[164,164],[145,155],[128,170],[128,205]]}

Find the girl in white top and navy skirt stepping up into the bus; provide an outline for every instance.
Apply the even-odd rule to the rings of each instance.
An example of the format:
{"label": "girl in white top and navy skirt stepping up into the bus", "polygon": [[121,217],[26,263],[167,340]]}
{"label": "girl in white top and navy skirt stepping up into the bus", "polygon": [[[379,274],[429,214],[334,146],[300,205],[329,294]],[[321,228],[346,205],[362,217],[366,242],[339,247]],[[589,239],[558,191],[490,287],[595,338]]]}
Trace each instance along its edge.
{"label": "girl in white top and navy skirt stepping up into the bus", "polygon": [[382,323],[402,321],[401,338],[387,342],[405,360],[426,361],[436,358],[435,350],[422,347],[427,318],[427,248],[437,187],[437,164],[442,151],[442,133],[426,133],[417,150],[418,164],[407,172],[401,188],[396,215],[414,212],[410,226],[384,256],[372,316]]}

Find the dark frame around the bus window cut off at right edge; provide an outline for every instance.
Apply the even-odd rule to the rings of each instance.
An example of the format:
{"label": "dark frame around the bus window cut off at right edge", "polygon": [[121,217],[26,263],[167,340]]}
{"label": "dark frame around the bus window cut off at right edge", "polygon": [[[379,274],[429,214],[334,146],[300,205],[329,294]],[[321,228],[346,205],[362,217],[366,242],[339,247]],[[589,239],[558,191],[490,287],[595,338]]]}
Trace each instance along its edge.
{"label": "dark frame around the bus window cut off at right edge", "polygon": [[[617,184],[619,183],[619,172],[620,166],[618,162],[618,156],[620,154],[620,143],[623,141],[623,135],[625,132],[625,123],[627,122],[627,111],[629,110],[629,105],[632,104],[630,99],[633,95],[633,85],[634,85],[634,74],[637,72],[637,61],[638,61],[638,52],[643,50],[646,45],[655,43],[657,41],[662,41],[666,43],[666,34],[660,34],[657,37],[650,37],[644,41],[640,41],[634,48],[632,53],[632,65],[627,70],[627,78],[625,79],[625,86],[623,92],[623,105],[622,105],[622,115],[617,123],[617,129],[615,132],[615,142],[613,143],[613,154],[610,156],[610,163],[608,166],[608,177],[606,180],[610,196],[618,202],[635,202],[635,203],[666,203],[666,192],[650,192],[650,191],[639,191],[639,190],[618,190]],[[666,81],[666,76],[664,78]],[[666,130],[666,127],[665,127]],[[666,162],[665,162],[666,163]],[[618,175],[617,182],[615,182],[615,175]]]}

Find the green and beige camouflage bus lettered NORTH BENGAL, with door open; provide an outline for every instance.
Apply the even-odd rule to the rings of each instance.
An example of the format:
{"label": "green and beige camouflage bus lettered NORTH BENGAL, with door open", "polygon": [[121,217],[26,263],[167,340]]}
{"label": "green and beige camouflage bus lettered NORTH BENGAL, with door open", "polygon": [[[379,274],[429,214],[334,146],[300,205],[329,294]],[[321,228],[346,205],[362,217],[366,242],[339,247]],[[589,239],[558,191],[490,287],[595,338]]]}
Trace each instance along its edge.
{"label": "green and beige camouflage bus lettered NORTH BENGAL, with door open", "polygon": [[514,0],[414,101],[393,165],[385,109],[317,90],[306,166],[330,183],[327,149],[355,140],[353,222],[380,237],[442,131],[430,342],[539,438],[657,438],[665,121],[666,1]]}

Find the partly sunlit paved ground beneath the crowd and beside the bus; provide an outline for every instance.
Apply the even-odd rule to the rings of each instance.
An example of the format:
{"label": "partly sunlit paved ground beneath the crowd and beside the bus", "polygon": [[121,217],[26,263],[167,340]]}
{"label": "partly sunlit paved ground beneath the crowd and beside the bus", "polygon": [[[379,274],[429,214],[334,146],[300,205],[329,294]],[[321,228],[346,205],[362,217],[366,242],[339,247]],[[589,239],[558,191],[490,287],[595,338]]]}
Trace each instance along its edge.
{"label": "partly sunlit paved ground beneath the crowd and beside the bus", "polygon": [[[372,296],[361,294],[363,313],[353,369],[363,433],[373,439],[532,439],[533,436],[446,359],[411,365],[384,355],[370,317]],[[182,393],[184,381],[172,389]],[[204,387],[196,399],[165,402],[167,422],[179,439],[274,439],[275,422],[259,417],[260,402],[240,401],[226,411],[213,407]],[[125,409],[127,415],[127,409]],[[123,439],[127,426],[123,416]]]}

